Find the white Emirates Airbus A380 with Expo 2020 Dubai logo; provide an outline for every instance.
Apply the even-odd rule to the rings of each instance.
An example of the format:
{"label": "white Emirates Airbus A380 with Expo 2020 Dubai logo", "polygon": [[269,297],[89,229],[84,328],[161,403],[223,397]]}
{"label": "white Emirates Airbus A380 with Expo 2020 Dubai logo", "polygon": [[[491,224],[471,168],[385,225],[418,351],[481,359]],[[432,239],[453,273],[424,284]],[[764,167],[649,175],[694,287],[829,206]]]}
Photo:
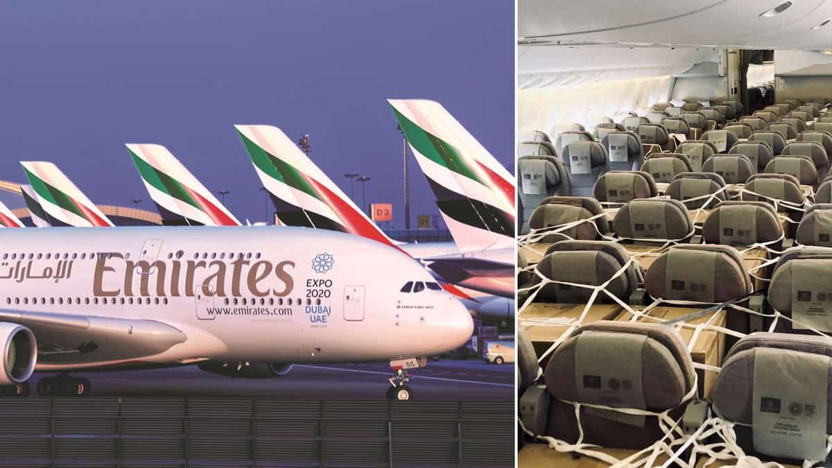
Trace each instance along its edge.
{"label": "white Emirates Airbus A380 with Expo 2020 Dubai logo", "polygon": [[[339,232],[281,227],[0,230],[0,384],[87,393],[67,371],[198,364],[280,375],[291,363],[390,360],[412,396],[423,356],[471,336],[418,262]],[[402,292],[422,283],[419,294]],[[409,288],[407,288],[409,291]],[[230,373],[230,372],[228,372]]]}

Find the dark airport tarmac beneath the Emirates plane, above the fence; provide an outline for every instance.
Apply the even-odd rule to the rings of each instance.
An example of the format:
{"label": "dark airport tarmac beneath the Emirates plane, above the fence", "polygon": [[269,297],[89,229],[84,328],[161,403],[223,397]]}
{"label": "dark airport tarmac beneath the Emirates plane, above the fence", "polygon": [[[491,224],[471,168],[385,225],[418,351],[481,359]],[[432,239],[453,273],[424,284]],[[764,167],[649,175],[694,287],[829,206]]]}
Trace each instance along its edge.
{"label": "dark airport tarmac beneath the Emirates plane, above the fence", "polygon": [[[37,381],[52,373],[36,372],[29,380],[37,398]],[[92,396],[240,396],[322,400],[385,398],[392,376],[387,363],[295,365],[285,376],[233,379],[196,366],[150,371],[78,372],[91,381]],[[428,361],[411,372],[409,386],[418,400],[501,400],[513,398],[513,364],[484,360]]]}

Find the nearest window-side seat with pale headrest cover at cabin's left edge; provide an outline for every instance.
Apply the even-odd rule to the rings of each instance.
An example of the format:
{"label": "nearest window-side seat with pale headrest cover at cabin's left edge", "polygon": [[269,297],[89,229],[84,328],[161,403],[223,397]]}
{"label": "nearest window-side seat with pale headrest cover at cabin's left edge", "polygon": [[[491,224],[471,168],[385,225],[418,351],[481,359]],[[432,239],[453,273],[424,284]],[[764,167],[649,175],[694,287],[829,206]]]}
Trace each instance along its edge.
{"label": "nearest window-side seat with pale headrest cover at cabin's left edge", "polygon": [[544,199],[553,195],[571,195],[569,175],[562,162],[552,155],[528,155],[518,158],[518,187],[522,204],[520,232],[528,232],[528,219]]}

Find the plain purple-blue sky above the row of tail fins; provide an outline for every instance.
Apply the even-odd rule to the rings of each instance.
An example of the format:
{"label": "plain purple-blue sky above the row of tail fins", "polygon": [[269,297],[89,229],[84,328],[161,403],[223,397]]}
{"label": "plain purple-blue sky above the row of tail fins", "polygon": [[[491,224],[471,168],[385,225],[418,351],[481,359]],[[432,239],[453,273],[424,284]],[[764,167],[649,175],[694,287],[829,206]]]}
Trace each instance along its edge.
{"label": "plain purple-blue sky above the row of tail fins", "polygon": [[[513,2],[482,0],[2,2],[0,179],[22,182],[22,159],[51,161],[93,202],[153,210],[123,143],[159,143],[230,190],[240,220],[262,221],[232,125],[272,124],[310,133],[310,156],[344,192],[344,172],[372,177],[367,202],[393,202],[404,227],[384,99],[442,102],[513,169],[513,17]],[[415,226],[438,210],[410,162]]]}

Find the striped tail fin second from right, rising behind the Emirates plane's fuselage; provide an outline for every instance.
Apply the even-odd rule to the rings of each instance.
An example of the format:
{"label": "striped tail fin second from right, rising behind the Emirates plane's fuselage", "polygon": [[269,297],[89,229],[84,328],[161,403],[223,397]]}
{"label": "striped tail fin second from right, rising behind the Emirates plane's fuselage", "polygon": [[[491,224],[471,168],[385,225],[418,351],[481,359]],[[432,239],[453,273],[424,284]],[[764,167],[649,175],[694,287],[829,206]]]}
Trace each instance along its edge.
{"label": "striped tail fin second from right, rising behind the Emirates plane's fuselage", "polygon": [[280,224],[392,241],[278,127],[235,125]]}

